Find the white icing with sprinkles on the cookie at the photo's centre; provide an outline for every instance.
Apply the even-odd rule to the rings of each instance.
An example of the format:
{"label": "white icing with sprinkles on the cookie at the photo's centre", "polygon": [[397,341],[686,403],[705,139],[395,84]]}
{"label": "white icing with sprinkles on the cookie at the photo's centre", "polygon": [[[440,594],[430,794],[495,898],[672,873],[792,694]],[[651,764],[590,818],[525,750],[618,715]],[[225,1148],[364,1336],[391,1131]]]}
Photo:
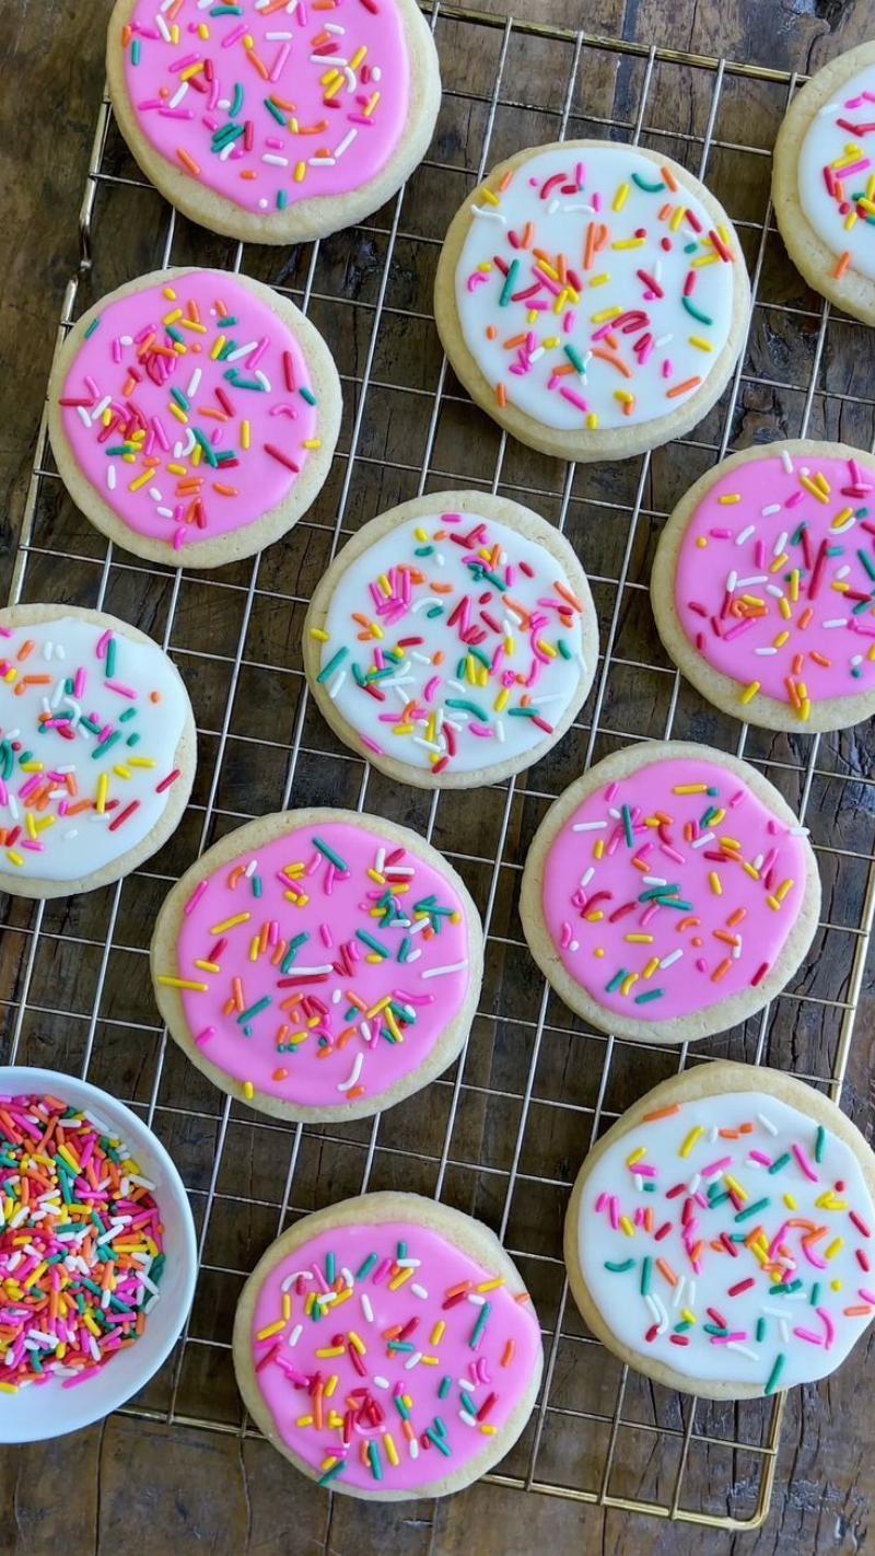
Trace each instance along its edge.
{"label": "white icing with sprinkles on the cookie at the photo's centre", "polygon": [[[519,618],[502,602],[500,590],[488,580],[477,582],[474,579],[465,559],[476,555],[476,546],[463,548],[449,538],[440,541],[432,541],[431,538],[435,531],[469,534],[477,524],[486,526],[490,545],[497,543],[502,548],[497,569],[502,569],[507,563],[513,566],[513,582],[507,590],[508,598],[522,605],[524,610],[539,613],[547,622],[535,636],[547,640],[550,646],[555,646],[556,640],[563,638],[570,652],[570,658],[556,655],[538,661],[536,680],[532,685],[513,685],[507,706],[502,711],[496,711],[496,697],[500,697],[502,692],[500,674],[502,671],[508,674],[511,671],[522,675],[530,674],[535,663],[530,635],[521,630]],[[427,538],[418,538],[426,532]],[[426,546],[434,546],[434,549],[429,555],[418,557],[417,551]],[[522,573],[521,563],[533,569],[533,577],[527,577]],[[393,568],[399,569],[401,566],[421,569],[426,574],[424,582],[412,584],[410,607],[396,621],[385,624],[384,638],[370,638],[365,643],[359,641],[362,624],[356,622],[353,615],[359,613],[378,622],[384,621],[375,612],[375,598],[370,585],[381,574],[389,576]],[[429,769],[434,766],[432,756],[440,758],[446,753],[444,722],[454,727],[457,741],[457,753],[449,764],[451,770],[471,772],[494,762],[524,756],[542,744],[547,734],[532,719],[511,714],[510,708],[519,706],[521,696],[528,694],[530,702],[541,708],[546,720],[555,727],[573,699],[581,674],[584,672],[580,615],[573,616],[572,626],[564,627],[558,624],[555,610],[539,605],[539,601],[544,599],[556,601],[556,580],[567,588],[567,580],[560,563],[544,546],[516,529],[508,529],[491,518],[483,520],[476,513],[444,517],[440,507],[435,507],[434,513],[410,520],[398,526],[398,529],[389,531],[343,569],[328,607],[325,630],[329,641],[322,644],[320,666],[325,669],[342,646],[347,646],[350,650],[337,669],[325,680],[325,686],[337,711],[356,730],[379,745],[381,750],[398,761],[407,762],[410,767]],[[448,591],[434,593],[431,590],[432,582],[437,582],[441,590],[446,588]],[[490,594],[490,599],[483,604],[482,596],[486,594]],[[457,675],[458,663],[466,657],[468,649],[460,638],[460,626],[448,626],[448,618],[463,596],[468,596],[471,602],[471,622],[483,627],[483,640],[477,646],[479,650],[488,660],[493,660],[496,649],[500,649],[502,654],[499,674],[490,674],[488,685],[485,686],[471,685],[468,678],[463,677],[460,680]],[[443,605],[443,613],[440,616],[429,616],[429,608],[435,604]],[[493,629],[485,627],[480,619],[480,608],[485,608],[493,621],[507,630],[496,633]],[[398,663],[398,669],[393,677],[379,682],[381,689],[385,692],[385,702],[376,702],[357,685],[353,664],[364,674],[373,668],[375,647],[385,652],[399,638],[410,636],[421,636],[424,641],[412,649],[406,649],[401,661],[389,660],[389,663]],[[508,640],[511,643],[510,652],[507,649]],[[444,661],[435,666],[434,655],[441,650]],[[474,672],[480,674],[480,669],[485,668],[476,661]],[[437,686],[435,678],[438,682]],[[426,696],[426,688],[431,688],[429,696]],[[486,717],[483,720],[476,719],[463,708],[448,706],[448,700],[472,702]],[[417,733],[395,736],[392,733],[393,727],[384,716],[393,714],[398,717],[404,706],[412,702],[420,710]],[[426,742],[427,719],[431,716],[435,719],[434,739]],[[472,734],[468,728],[471,724],[488,730],[488,733]]]}

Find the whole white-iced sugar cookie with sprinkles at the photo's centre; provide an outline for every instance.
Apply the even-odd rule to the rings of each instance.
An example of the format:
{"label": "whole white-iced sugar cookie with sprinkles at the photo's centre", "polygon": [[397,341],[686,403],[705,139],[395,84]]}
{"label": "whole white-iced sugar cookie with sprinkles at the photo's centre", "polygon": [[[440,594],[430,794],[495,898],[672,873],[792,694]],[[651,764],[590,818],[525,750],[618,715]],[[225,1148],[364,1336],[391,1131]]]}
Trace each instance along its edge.
{"label": "whole white-iced sugar cookie with sprinkles at the photo's centre", "polygon": [[483,492],[434,492],[365,524],[319,582],[303,633],[334,733],[426,789],[538,762],[580,713],[597,657],[569,541]]}

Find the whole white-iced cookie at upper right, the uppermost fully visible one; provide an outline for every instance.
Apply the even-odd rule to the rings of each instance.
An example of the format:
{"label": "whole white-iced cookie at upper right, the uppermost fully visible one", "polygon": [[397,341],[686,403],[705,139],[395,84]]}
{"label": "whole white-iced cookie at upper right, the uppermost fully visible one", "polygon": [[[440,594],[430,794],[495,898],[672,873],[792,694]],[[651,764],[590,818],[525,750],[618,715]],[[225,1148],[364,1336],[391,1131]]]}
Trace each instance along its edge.
{"label": "whole white-iced cookie at upper right, the uppermost fully visible one", "polygon": [[659,152],[608,140],[500,162],[446,235],[435,319],[468,394],[560,459],[628,459],[681,437],[748,330],[738,237]]}

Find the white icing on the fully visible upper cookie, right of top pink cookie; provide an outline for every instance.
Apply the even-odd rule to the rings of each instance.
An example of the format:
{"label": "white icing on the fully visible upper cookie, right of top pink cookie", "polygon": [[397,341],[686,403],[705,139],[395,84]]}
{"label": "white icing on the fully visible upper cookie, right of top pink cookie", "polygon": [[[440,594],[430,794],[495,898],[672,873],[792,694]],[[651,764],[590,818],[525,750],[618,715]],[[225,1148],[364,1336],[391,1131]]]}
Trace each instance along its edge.
{"label": "white icing on the fully visible upper cookie, right of top pink cookie", "polygon": [[[577,168],[583,168],[583,174],[575,174]],[[567,174],[572,184],[580,180],[583,188],[572,193],[556,188],[556,193],[550,191],[542,199],[541,188],[556,173]],[[546,426],[581,431],[587,426],[587,415],[595,415],[601,429],[623,428],[668,415],[688,401],[695,387],[676,397],[670,397],[668,391],[692,378],[704,381],[729,338],[735,266],[743,263],[734,233],[726,232],[724,237],[735,263],[713,258],[716,251],[707,238],[713,223],[695,193],[696,180],[687,177],[678,191],[664,185],[661,191],[648,193],[634,184],[633,174],[648,185],[664,182],[657,163],[633,146],[605,143],[597,148],[533,152],[528,162],[516,168],[511,184],[497,196],[499,204],[477,202],[472,207],[477,219],[471,221],[455,271],[462,333],[488,383],[504,384],[508,403]],[[615,212],[612,207],[623,187],[628,193],[622,210]],[[671,213],[679,207],[692,212],[701,226],[699,235],[685,218],[679,227],[671,227]],[[528,221],[535,227],[532,246],[513,249],[508,232],[522,238]],[[586,269],[591,224],[605,226],[609,232],[606,246],[592,257]],[[617,243],[634,241],[642,230],[647,233],[642,246],[615,247]],[[664,247],[664,241],[670,249]],[[690,244],[695,249],[685,252]],[[513,289],[521,291],[533,283],[535,249],[546,251],[552,261],[558,254],[564,255],[567,268],[583,282],[578,302],[570,296],[563,300],[555,288],[552,291],[544,283],[533,302],[547,302],[549,308],[535,316],[530,314],[528,302],[500,307],[505,279],[494,265],[496,255],[505,261],[519,260]],[[696,266],[699,258],[713,263]],[[486,279],[474,282],[471,289],[471,277],[480,266],[490,266]],[[684,307],[682,289],[690,266],[695,289],[688,302],[710,324],[702,324]],[[664,297],[657,297],[642,282],[637,274],[640,269],[657,282]],[[600,277],[608,279],[598,280]],[[601,314],[611,308],[628,314],[617,327],[614,355],[625,363],[631,377],[589,355],[594,345],[605,349],[605,339],[594,341],[594,335],[608,324]],[[490,325],[497,331],[494,339],[486,336]],[[623,333],[623,325],[629,327],[628,333]],[[532,341],[521,358],[518,349],[505,347],[505,341],[524,331],[532,333]],[[640,345],[647,336],[651,344]],[[544,345],[550,339],[556,344]],[[692,344],[693,339],[706,341],[710,350]],[[570,366],[564,350],[567,345],[577,353],[583,372],[573,369],[561,383],[586,403],[586,411],[563,397],[556,387],[549,387],[555,369]],[[514,372],[525,361],[530,363],[528,370]],[[617,392],[634,395],[629,414]]]}

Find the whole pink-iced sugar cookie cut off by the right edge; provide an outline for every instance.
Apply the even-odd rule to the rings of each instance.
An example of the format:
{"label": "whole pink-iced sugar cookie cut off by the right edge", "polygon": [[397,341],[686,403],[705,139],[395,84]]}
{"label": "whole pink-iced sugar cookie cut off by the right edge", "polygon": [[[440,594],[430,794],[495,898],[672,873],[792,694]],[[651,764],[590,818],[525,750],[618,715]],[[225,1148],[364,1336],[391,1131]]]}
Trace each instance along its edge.
{"label": "whole pink-iced sugar cookie cut off by the right edge", "polygon": [[875,462],[844,443],[748,448],[668,520],[659,635],[710,702],[768,730],[875,710]]}

